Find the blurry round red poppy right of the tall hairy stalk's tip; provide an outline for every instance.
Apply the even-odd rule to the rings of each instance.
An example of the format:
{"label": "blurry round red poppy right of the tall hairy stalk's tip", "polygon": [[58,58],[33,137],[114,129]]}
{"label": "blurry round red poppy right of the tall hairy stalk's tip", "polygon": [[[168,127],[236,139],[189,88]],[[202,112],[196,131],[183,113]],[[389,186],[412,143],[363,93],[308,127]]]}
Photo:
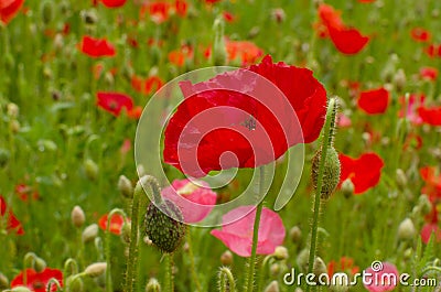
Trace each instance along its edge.
{"label": "blurry round red poppy right of the tall hairy stalk's tip", "polygon": [[384,113],[389,105],[389,91],[383,87],[362,91],[357,104],[366,113]]}

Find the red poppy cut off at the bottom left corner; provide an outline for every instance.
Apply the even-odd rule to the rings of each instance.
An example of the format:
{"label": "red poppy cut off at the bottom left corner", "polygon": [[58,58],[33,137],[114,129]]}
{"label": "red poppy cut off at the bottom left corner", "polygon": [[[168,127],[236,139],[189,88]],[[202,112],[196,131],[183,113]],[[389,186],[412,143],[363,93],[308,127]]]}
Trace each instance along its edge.
{"label": "red poppy cut off at the bottom left corner", "polygon": [[[26,284],[24,284],[23,272],[20,272],[12,281],[11,288],[24,285],[29,288],[31,291],[35,292],[46,292],[49,281],[54,278],[58,281],[60,285],[63,286],[63,273],[57,269],[46,268],[41,272],[36,272],[33,269],[26,269]],[[55,284],[51,285],[51,291],[57,291],[57,286]]]}

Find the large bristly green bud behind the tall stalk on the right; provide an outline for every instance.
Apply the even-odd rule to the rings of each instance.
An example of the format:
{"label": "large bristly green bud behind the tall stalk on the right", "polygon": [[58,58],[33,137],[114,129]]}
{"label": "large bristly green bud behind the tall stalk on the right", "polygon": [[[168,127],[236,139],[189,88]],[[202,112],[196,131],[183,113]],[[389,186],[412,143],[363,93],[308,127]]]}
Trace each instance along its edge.
{"label": "large bristly green bud behind the tall stalk on the right", "polygon": [[[318,184],[320,158],[322,156],[322,149],[320,149],[312,159],[312,185],[314,190]],[[333,147],[327,148],[326,161],[324,163],[323,179],[322,179],[322,199],[330,198],[335,187],[340,182],[340,160],[338,153]]]}

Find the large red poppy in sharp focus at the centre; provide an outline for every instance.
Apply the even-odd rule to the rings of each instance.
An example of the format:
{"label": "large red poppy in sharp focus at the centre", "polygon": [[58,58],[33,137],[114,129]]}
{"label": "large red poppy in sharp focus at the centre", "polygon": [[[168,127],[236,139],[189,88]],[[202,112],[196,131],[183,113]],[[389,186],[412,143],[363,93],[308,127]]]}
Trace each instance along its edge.
{"label": "large red poppy in sharp focus at the centre", "polygon": [[165,128],[164,161],[196,177],[267,164],[291,145],[314,141],[323,127],[324,87],[311,71],[273,64],[270,56],[180,86],[184,101]]}

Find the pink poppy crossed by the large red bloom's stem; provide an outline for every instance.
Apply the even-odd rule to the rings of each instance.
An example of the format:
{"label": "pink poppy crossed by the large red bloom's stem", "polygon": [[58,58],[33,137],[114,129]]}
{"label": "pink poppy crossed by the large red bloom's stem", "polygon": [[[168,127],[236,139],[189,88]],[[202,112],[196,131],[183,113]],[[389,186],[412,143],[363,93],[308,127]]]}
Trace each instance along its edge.
{"label": "pink poppy crossed by the large red bloom's stem", "polygon": [[[233,221],[234,218],[240,219]],[[255,206],[238,207],[223,216],[224,225],[220,230],[214,229],[211,234],[224,242],[236,255],[250,257],[255,218]],[[286,229],[280,216],[269,208],[263,208],[260,217],[257,253],[271,255],[275,252],[276,247],[283,242],[284,236]]]}

